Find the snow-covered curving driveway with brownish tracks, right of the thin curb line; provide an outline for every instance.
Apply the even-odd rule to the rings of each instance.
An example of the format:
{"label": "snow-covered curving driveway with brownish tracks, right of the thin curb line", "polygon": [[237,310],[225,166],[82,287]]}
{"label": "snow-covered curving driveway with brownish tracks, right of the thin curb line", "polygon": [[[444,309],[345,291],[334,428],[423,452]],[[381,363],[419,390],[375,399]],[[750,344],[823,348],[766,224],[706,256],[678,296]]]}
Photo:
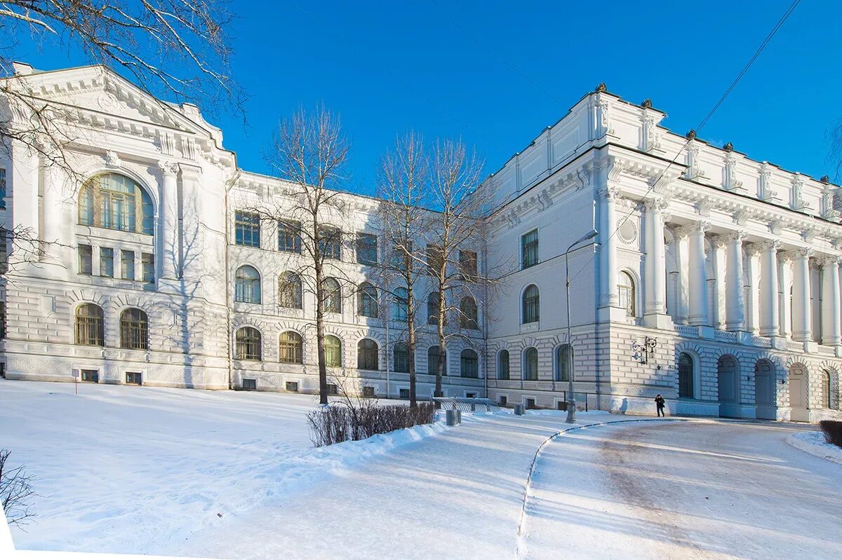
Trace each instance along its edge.
{"label": "snow-covered curving driveway with brownish tracks, right of the thin curb line", "polygon": [[571,432],[533,478],[525,557],[842,557],[842,467],[793,425],[633,423]]}

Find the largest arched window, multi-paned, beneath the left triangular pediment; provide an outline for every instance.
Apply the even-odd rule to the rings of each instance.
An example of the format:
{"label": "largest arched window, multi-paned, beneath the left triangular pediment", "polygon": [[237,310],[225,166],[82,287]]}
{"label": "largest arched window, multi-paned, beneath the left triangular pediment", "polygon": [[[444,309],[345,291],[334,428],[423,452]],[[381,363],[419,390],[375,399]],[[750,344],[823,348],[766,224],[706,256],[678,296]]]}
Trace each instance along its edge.
{"label": "largest arched window, multi-paned, beneath the left triangular pediment", "polygon": [[152,198],[124,175],[91,177],[79,191],[79,224],[152,235]]}

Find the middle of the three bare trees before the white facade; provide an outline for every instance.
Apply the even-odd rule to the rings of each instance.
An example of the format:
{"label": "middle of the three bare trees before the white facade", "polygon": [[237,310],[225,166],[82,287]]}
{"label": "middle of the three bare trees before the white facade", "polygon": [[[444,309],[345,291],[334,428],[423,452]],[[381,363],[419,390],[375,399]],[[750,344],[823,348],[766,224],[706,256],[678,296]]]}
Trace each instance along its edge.
{"label": "middle of the three bare trees before the white facade", "polygon": [[[408,351],[409,405],[416,406],[415,348],[418,346],[419,280],[424,269],[424,248],[418,240],[428,235],[429,160],[424,141],[413,133],[399,138],[381,160],[376,227],[386,246],[386,259],[379,264],[380,288],[397,309],[397,322],[406,325],[398,343]],[[385,320],[391,318],[386,314]],[[388,358],[386,358],[388,359]]]}

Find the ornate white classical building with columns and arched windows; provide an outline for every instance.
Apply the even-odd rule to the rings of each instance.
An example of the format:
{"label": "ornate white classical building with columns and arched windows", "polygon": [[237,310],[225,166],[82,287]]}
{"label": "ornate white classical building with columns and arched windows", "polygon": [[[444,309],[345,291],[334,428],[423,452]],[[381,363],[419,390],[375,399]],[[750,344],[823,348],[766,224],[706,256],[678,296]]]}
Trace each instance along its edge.
{"label": "ornate white classical building with columns and arched windows", "polygon": [[[238,170],[195,106],[100,67],[21,65],[17,79],[72,114],[68,149],[88,182],[72,188],[22,144],[0,155],[6,227],[48,242],[10,254],[6,377],[316,390],[314,302],[284,282],[295,240],[238,213],[282,205],[285,183]],[[499,219],[481,266],[510,272],[480,309],[486,335],[448,348],[446,394],[556,407],[572,347],[589,407],[652,414],[662,394],[679,414],[839,414],[836,187],[674,135],[663,117],[599,87],[490,179]],[[333,266],[361,283],[384,255],[365,236],[377,201],[347,198],[336,226],[364,241]],[[594,228],[599,245],[569,256],[568,341],[564,253]],[[372,310],[379,299],[338,298],[328,361],[366,393],[402,396],[401,326]],[[430,331],[419,345],[422,398],[434,344]]]}

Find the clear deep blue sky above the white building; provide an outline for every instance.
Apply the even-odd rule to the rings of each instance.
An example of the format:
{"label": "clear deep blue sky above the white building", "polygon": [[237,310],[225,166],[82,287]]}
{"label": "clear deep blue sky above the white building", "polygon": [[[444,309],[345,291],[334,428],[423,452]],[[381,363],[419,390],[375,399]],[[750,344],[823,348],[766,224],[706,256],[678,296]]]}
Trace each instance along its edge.
{"label": "clear deep blue sky above the white building", "polygon": [[[599,82],[635,103],[652,98],[668,114],[662,124],[684,134],[790,3],[233,0],[248,127],[214,120],[243,169],[267,172],[262,152],[278,119],[323,102],[343,119],[365,193],[397,134],[461,138],[493,172]],[[700,137],[834,177],[826,134],[842,117],[840,21],[842,3],[804,0]],[[84,62],[27,40],[14,55],[42,69]]]}

